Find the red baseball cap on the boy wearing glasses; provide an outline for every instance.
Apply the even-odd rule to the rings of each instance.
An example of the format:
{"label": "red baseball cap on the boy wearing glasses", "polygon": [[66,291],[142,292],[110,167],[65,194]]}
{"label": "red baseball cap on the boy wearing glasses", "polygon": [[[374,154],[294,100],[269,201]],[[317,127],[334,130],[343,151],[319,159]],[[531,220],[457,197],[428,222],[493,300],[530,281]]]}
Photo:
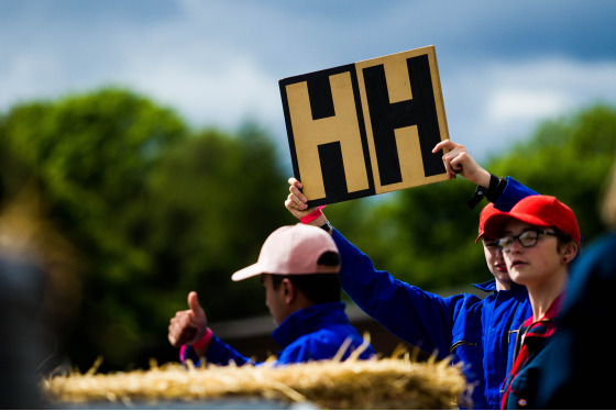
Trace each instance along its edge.
{"label": "red baseball cap on the boy wearing glasses", "polygon": [[512,211],[490,215],[484,223],[484,232],[487,236],[499,238],[504,235],[505,225],[512,220],[538,226],[553,226],[570,235],[578,244],[582,241],[575,213],[556,197],[526,197],[518,201]]}

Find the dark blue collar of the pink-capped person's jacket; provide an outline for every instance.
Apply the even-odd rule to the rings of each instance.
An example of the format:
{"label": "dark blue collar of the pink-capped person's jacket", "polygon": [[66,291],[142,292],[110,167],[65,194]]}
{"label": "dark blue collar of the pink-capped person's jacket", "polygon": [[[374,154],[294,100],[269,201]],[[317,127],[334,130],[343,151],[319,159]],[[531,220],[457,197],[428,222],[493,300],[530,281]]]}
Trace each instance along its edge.
{"label": "dark blue collar of the pink-capped person's jacket", "polygon": [[272,332],[282,348],[302,335],[314,333],[332,324],[349,324],[344,302],[328,302],[297,310]]}

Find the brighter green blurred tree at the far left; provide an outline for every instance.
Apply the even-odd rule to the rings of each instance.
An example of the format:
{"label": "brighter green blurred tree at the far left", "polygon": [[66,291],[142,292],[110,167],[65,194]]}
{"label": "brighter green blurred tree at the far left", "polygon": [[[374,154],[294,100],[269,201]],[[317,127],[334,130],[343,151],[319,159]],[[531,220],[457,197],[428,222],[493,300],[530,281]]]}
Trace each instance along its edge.
{"label": "brighter green blurred tree at the far left", "polygon": [[78,364],[102,354],[117,365],[134,354],[140,322],[127,286],[145,278],[152,260],[127,223],[162,152],[186,133],[170,110],[118,89],[25,103],[1,120],[2,157],[12,158],[1,166],[3,197],[33,185],[85,264],[84,303],[67,338]]}

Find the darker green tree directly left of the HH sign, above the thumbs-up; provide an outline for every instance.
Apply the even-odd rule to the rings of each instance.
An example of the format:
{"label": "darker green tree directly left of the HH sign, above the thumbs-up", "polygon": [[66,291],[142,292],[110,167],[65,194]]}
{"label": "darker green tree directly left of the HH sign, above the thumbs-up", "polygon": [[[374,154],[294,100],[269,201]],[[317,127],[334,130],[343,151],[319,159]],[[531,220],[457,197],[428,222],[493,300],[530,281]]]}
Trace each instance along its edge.
{"label": "darker green tree directly left of the HH sign, above the thumbs-up", "polygon": [[[231,275],[256,262],[272,231],[294,223],[283,212],[280,181],[275,147],[252,124],[237,136],[199,132],[165,153],[148,180],[156,207],[143,210],[140,235],[156,258],[153,288],[177,290],[158,319],[168,323],[169,313],[186,309],[190,290],[200,292],[210,321],[266,312],[260,282],[232,282]],[[154,309],[151,302],[144,307]]]}

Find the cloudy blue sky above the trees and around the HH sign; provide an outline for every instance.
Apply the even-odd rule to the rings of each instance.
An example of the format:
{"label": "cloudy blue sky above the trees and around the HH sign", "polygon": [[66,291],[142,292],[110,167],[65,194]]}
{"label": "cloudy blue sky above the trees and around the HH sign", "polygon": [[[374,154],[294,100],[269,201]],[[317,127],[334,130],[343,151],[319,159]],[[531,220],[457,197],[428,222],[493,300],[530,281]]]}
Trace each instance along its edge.
{"label": "cloudy blue sky above the trees and around the HH sign", "polygon": [[246,118],[288,156],[278,79],[435,45],[480,160],[538,120],[616,104],[614,1],[0,0],[0,111],[123,86],[196,127]]}

